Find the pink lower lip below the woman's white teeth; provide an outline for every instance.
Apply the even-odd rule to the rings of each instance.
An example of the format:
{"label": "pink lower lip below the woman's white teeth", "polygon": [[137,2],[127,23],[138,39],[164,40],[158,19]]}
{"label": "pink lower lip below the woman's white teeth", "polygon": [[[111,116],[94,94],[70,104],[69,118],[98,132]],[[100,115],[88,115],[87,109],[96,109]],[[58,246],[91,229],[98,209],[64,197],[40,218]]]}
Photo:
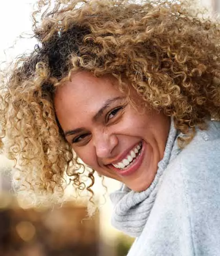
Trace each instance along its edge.
{"label": "pink lower lip below the woman's white teeth", "polygon": [[135,173],[138,170],[138,168],[141,166],[141,163],[144,158],[144,152],[145,152],[145,143],[142,141],[141,154],[139,154],[136,157],[135,162],[128,169],[121,170],[121,169],[114,167],[114,165],[111,165],[110,168],[114,169],[114,171],[116,171],[121,176],[131,175],[131,174]]}

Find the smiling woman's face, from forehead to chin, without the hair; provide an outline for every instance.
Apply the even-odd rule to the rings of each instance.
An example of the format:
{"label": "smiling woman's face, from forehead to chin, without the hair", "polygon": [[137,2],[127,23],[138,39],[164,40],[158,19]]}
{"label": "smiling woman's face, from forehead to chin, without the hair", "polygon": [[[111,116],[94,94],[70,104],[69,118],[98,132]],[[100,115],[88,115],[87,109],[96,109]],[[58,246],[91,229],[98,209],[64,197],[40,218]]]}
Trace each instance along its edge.
{"label": "smiling woman's face, from forehead to chin, without the hair", "polygon": [[[115,83],[89,72],[73,74],[71,82],[57,88],[55,111],[66,140],[84,163],[143,191],[163,158],[170,120],[155,110],[134,108]],[[134,102],[140,103],[131,91]]]}

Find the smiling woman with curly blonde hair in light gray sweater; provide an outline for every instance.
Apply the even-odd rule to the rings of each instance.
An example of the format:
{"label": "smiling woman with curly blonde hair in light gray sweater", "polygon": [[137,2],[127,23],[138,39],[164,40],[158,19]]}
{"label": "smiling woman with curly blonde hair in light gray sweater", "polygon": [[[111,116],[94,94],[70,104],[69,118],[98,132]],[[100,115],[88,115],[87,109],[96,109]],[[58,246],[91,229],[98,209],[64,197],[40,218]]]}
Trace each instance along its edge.
{"label": "smiling woman with curly blonde hair in light gray sweater", "polygon": [[[2,148],[24,189],[123,183],[129,256],[220,253],[220,25],[172,1],[38,2],[39,44],[2,87]],[[41,8],[42,22],[37,22]]]}

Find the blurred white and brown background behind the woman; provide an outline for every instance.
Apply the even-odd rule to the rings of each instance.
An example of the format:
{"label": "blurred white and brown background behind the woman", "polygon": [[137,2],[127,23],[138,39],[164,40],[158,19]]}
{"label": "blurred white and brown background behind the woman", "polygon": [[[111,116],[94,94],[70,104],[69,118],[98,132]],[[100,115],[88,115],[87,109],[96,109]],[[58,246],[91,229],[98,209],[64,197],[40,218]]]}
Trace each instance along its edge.
{"label": "blurred white and brown background behind the woman", "polygon": [[[196,0],[210,16],[220,13],[220,0]],[[30,52],[37,43],[31,39],[31,18],[35,0],[2,0],[0,3],[0,69],[16,56]],[[29,38],[28,38],[29,37]],[[27,39],[28,38],[28,39]],[[33,207],[13,193],[10,170],[13,163],[0,155],[0,256],[125,256],[133,239],[115,230],[110,223],[112,205],[108,194],[119,183],[99,177],[95,200],[99,210],[88,217],[87,201],[76,200],[72,187],[65,202]],[[88,206],[88,209],[92,205]]]}

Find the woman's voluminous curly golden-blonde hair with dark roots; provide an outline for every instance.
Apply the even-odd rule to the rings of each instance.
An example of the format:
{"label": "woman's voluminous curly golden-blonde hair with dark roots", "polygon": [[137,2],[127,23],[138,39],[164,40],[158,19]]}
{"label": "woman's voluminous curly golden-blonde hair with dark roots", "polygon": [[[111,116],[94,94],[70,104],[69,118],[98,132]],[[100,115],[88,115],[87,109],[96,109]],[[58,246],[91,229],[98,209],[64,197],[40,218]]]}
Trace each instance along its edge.
{"label": "woman's voluminous curly golden-blonde hair with dark roots", "polygon": [[72,72],[111,75],[122,87],[128,81],[146,104],[174,119],[185,141],[196,126],[220,119],[220,24],[194,15],[187,4],[57,0],[51,10],[39,0],[33,32],[38,45],[17,60],[0,96],[0,147],[16,160],[23,189],[62,190],[65,173],[78,190],[86,187],[84,165],[53,106],[56,87]]}

